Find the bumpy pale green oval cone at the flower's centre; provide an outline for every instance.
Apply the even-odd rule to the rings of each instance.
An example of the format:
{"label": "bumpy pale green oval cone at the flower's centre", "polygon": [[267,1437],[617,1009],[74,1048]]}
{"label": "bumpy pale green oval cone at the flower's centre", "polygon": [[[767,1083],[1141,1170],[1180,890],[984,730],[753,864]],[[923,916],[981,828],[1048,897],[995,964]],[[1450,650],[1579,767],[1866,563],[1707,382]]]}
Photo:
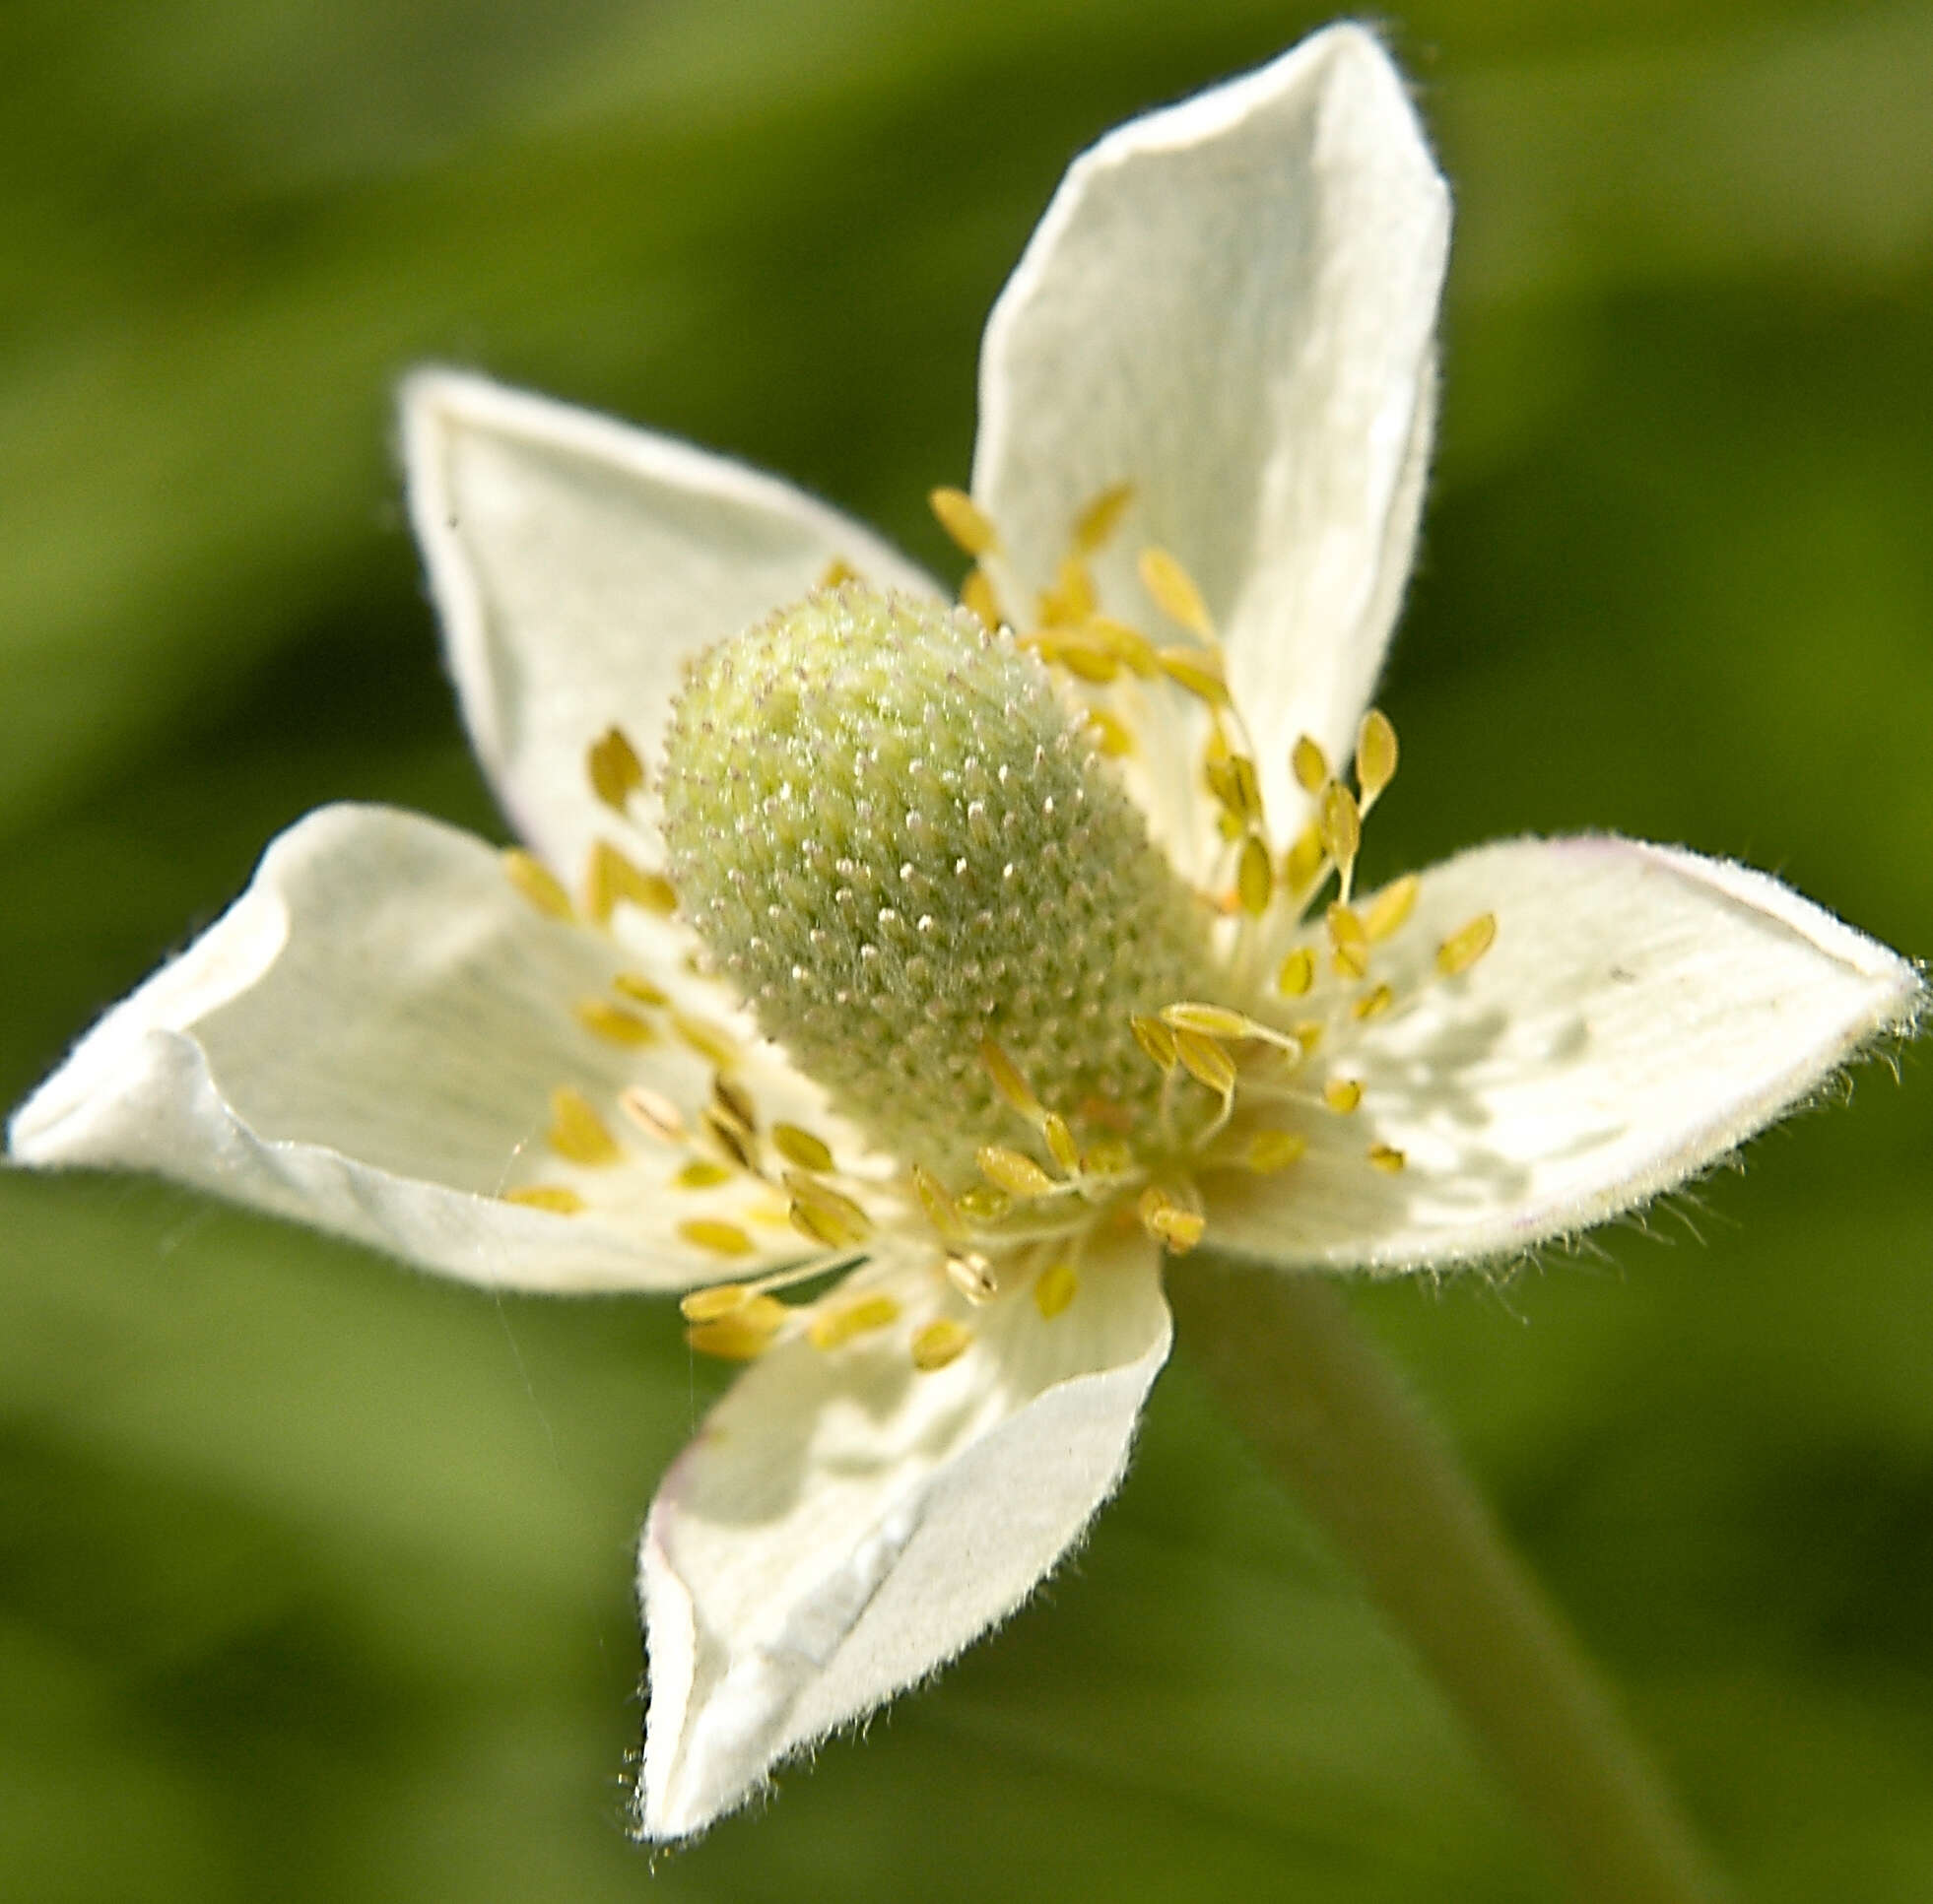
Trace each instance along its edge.
{"label": "bumpy pale green oval cone at the flower's centre", "polygon": [[698,661],[663,804],[692,926],[897,1156],[1017,1140],[988,1040],[1075,1131],[1154,1123],[1131,1019],[1200,992],[1206,920],[1011,636],[812,595]]}

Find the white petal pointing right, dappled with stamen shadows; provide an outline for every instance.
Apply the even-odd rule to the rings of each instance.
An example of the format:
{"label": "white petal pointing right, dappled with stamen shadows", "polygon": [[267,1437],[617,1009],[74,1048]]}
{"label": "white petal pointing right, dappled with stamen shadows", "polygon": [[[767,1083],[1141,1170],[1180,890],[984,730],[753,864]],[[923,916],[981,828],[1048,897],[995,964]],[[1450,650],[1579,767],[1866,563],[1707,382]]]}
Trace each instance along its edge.
{"label": "white petal pointing right, dappled with stamen shadows", "polygon": [[[1432,980],[1436,945],[1496,943]],[[1380,1270],[1512,1255],[1684,1183],[1923,1005],[1919,974],[1776,880],[1610,837],[1483,847],[1423,876],[1376,949],[1390,1015],[1338,1032],[1353,1117],[1231,1191],[1210,1237],[1278,1262]],[[1394,1175],[1367,1162],[1394,1144]]]}

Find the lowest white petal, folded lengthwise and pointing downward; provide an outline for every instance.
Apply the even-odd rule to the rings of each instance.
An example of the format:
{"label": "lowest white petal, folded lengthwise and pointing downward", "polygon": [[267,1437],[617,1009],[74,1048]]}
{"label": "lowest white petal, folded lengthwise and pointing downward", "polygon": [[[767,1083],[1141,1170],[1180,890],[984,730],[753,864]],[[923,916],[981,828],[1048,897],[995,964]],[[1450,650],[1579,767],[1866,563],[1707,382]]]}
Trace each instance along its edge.
{"label": "lowest white petal, folded lengthwise and pointing downward", "polygon": [[[1052,1322],[1026,1291],[966,1309],[930,1266],[866,1276],[905,1322],[769,1351],[651,1506],[644,1836],[704,1831],[1011,1614],[1119,1485],[1168,1359],[1146,1249],[1090,1260]],[[909,1332],[941,1313],[976,1341],[920,1374]]]}

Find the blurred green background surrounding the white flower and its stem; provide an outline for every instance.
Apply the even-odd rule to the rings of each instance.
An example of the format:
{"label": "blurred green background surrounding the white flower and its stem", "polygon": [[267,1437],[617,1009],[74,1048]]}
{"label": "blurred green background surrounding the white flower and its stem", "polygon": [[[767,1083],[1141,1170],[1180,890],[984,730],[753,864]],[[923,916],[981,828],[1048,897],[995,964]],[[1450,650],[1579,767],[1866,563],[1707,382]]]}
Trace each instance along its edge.
{"label": "blurred green background surrounding the white flower and its stem", "polygon": [[[476,363],[947,561],[980,321],[1187,0],[8,0],[0,1098],[338,796],[497,833],[389,392]],[[1606,825],[1933,949],[1933,10],[1432,0],[1444,445],[1380,868]],[[1933,1894],[1933,1079],[1651,1235],[1365,1291],[1763,1900]],[[0,1894],[1552,1898],[1187,1361],[1092,1543],[781,1800],[620,1831],[715,1370],[157,1185],[0,1177]]]}

